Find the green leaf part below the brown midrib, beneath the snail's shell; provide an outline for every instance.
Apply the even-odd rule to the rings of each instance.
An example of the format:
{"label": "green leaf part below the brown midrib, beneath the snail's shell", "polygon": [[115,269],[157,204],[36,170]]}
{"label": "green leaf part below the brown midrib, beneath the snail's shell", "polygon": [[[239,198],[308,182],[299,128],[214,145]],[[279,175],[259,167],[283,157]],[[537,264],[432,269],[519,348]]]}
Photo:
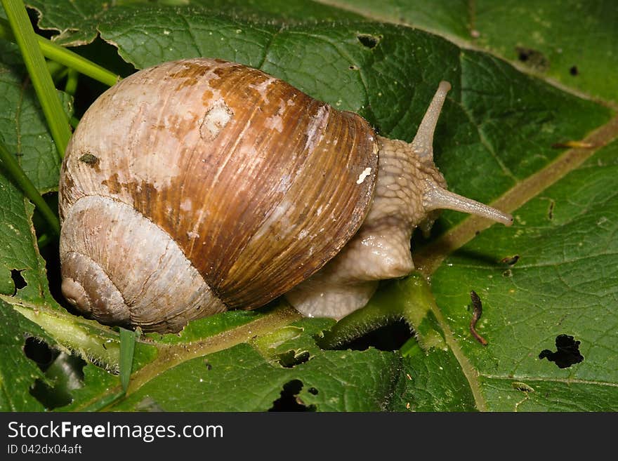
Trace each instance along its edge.
{"label": "green leaf part below the brown midrib, beneath the snail's shell", "polygon": [[330,351],[294,368],[272,365],[242,344],[185,361],[114,407],[180,411],[268,410],[287,382],[301,380],[298,399],[328,411],[383,410],[399,378],[393,352]]}

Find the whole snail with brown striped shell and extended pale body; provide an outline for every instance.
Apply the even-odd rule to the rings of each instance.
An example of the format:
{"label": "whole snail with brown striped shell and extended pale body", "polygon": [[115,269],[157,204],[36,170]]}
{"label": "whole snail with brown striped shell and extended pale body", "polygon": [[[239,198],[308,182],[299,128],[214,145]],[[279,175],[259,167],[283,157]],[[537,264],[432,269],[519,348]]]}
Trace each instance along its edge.
{"label": "whole snail with brown striped shell and extended pale body", "polygon": [[60,173],[62,291],[101,323],[176,332],[285,293],[339,319],[414,269],[410,239],[449,208],[511,215],[447,191],[438,86],[411,143],[376,135],[258,69],[186,59],[93,102]]}

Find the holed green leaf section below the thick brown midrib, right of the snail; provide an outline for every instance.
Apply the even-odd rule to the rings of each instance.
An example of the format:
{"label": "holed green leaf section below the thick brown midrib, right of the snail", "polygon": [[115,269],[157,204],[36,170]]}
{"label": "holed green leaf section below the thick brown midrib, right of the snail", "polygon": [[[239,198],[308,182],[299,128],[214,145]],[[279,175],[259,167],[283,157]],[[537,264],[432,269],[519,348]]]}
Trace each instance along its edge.
{"label": "holed green leaf section below the thick brown midrib, right of the snail", "polygon": [[[513,227],[492,227],[435,272],[445,327],[461,338],[489,409],[504,410],[506,401],[518,408],[513,381],[541,382],[544,389],[555,382],[562,408],[595,410],[600,399],[606,410],[617,408],[617,158],[614,141],[520,208]],[[512,255],[519,256],[512,266],[500,262]],[[470,290],[483,302],[478,330],[487,347],[468,333]],[[561,369],[539,359],[542,350],[555,350],[560,334],[581,342],[584,361]],[[526,394],[527,405],[543,408],[558,399],[546,394]]]}

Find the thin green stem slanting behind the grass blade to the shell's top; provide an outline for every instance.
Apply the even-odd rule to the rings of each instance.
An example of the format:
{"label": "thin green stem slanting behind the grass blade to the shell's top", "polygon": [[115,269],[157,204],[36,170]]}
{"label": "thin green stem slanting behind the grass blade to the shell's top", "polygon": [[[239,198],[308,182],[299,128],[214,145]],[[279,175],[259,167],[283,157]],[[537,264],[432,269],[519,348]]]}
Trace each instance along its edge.
{"label": "thin green stem slanting behind the grass blade to the shell's top", "polygon": [[[11,32],[10,25],[2,18],[0,18],[0,38],[15,42],[15,36]],[[107,86],[113,86],[120,80],[120,76],[110,72],[105,67],[82,58],[77,53],[67,50],[67,48],[57,45],[45,37],[37,35],[37,41],[39,42],[39,47],[41,47],[41,52],[48,59],[65,65],[70,69],[77,70],[80,74],[87,75]]]}

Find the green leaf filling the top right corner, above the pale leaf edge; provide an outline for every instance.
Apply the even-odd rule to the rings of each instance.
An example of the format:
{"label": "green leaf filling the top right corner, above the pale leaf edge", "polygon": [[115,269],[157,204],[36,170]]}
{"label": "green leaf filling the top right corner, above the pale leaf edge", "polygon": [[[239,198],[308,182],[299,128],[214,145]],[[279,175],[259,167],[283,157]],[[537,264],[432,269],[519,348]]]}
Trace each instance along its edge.
{"label": "green leaf filling the top right corner, above the pale leaf edge", "polygon": [[482,48],[533,74],[618,102],[612,79],[618,10],[612,0],[338,0],[367,18],[405,24]]}

